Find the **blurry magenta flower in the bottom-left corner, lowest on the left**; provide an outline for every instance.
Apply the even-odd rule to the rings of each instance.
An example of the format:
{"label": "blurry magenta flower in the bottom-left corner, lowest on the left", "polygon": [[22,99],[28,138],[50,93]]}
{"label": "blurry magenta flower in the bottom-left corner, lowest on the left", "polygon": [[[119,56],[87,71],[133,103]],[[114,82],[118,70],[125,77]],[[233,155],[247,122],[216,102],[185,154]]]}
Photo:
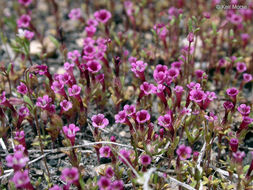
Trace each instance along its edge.
{"label": "blurry magenta flower in the bottom-left corner, lowest on the left", "polygon": [[29,189],[33,189],[31,188],[28,170],[15,172],[11,181],[13,181],[16,188],[28,189],[28,187],[30,187]]}

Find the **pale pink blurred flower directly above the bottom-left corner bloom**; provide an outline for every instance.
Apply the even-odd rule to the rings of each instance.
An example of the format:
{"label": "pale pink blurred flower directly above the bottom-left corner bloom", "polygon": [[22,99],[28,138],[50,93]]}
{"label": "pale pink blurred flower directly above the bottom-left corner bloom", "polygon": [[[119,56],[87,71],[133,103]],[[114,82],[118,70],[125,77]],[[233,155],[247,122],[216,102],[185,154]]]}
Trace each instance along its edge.
{"label": "pale pink blurred flower directly above the bottom-left corner bloom", "polygon": [[29,158],[24,156],[21,151],[15,152],[14,155],[8,155],[6,157],[6,165],[12,167],[15,171],[20,170],[26,166]]}

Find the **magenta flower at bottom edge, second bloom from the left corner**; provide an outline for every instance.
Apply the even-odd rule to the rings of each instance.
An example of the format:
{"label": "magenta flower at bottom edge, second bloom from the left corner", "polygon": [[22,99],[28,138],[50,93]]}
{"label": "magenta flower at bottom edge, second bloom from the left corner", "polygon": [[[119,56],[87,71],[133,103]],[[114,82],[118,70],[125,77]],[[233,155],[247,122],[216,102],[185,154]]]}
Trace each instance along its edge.
{"label": "magenta flower at bottom edge, second bloom from the left corner", "polygon": [[63,181],[67,184],[72,184],[78,181],[79,173],[76,167],[73,168],[64,168],[61,172],[61,177]]}

